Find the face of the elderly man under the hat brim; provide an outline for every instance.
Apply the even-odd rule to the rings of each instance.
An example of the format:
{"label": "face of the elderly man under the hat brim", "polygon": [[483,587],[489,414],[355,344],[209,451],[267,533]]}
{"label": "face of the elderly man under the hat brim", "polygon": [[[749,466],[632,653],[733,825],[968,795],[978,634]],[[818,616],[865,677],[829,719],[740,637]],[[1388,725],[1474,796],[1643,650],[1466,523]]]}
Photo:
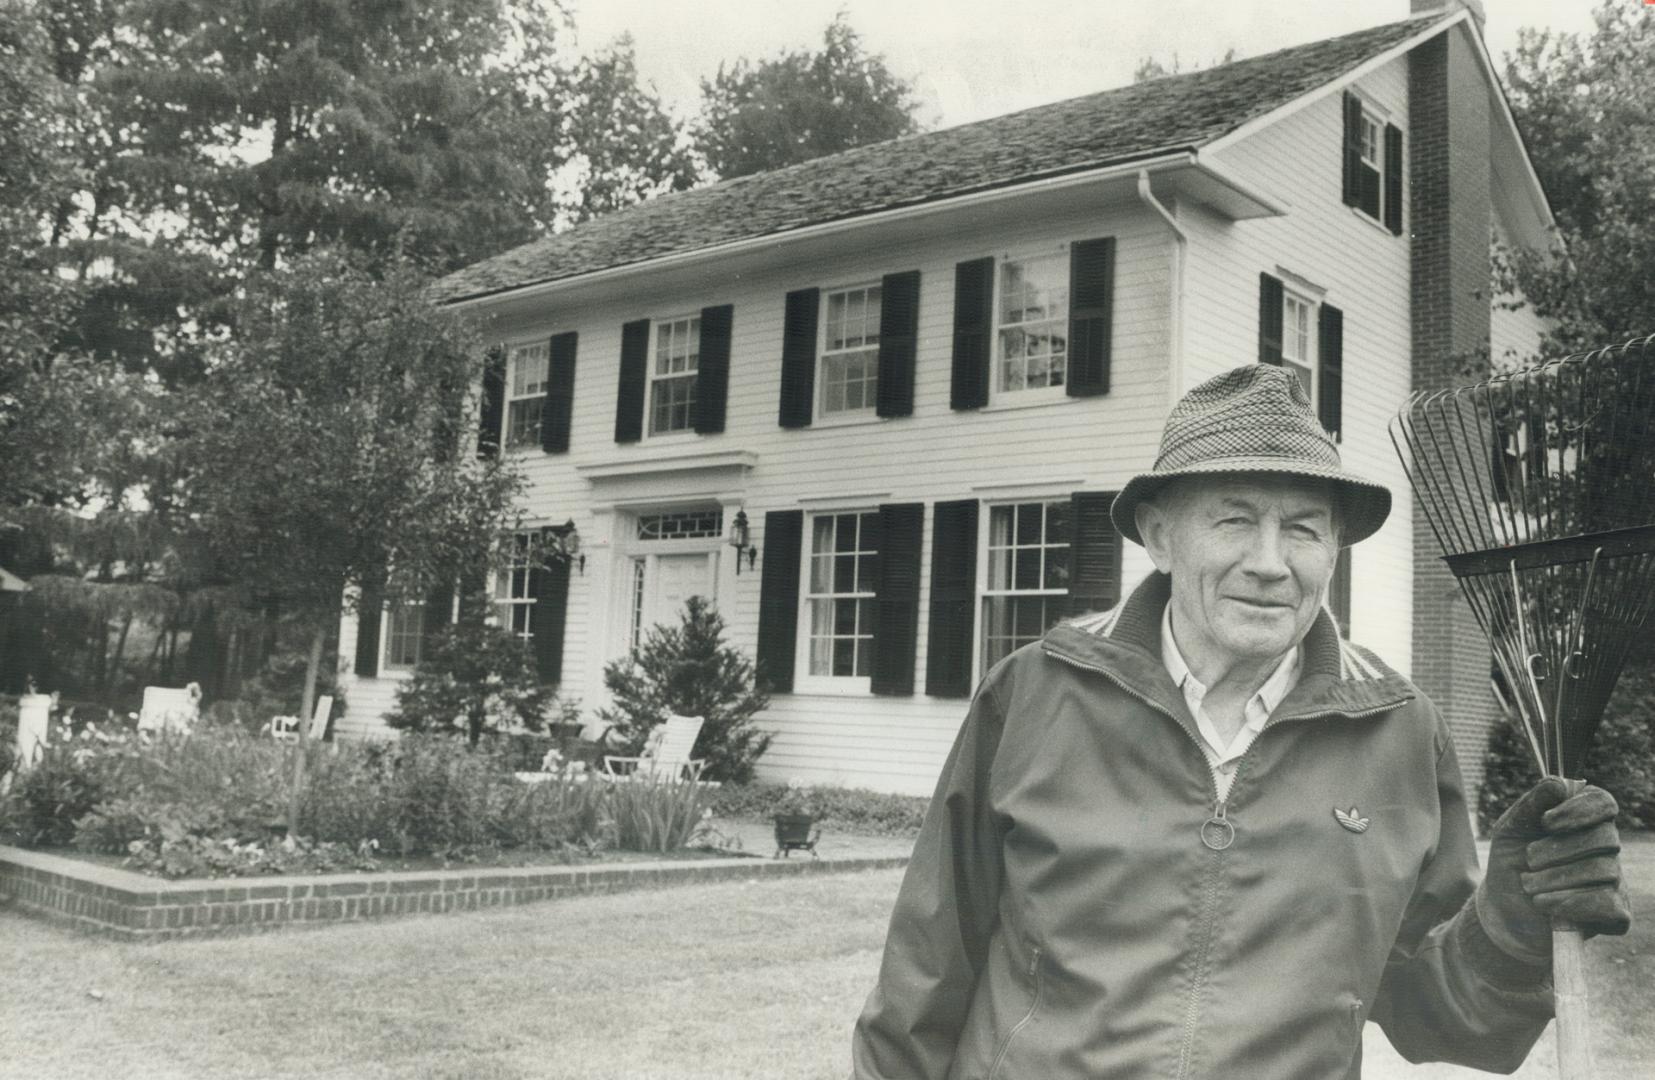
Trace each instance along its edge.
{"label": "face of the elderly man under the hat brim", "polygon": [[1172,576],[1180,642],[1215,662],[1264,662],[1298,645],[1334,574],[1331,486],[1314,480],[1180,480],[1140,511],[1155,566]]}

